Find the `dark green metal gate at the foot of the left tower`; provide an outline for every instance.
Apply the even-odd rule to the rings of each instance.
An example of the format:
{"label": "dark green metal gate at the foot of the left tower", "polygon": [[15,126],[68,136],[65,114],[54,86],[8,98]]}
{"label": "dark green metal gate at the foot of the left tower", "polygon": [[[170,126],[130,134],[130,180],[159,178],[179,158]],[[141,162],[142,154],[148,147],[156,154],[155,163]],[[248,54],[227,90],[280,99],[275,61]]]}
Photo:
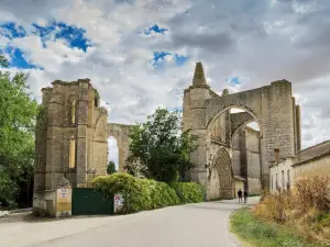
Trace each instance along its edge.
{"label": "dark green metal gate at the foot of the left tower", "polygon": [[73,215],[113,214],[113,200],[105,199],[92,188],[73,189]]}

